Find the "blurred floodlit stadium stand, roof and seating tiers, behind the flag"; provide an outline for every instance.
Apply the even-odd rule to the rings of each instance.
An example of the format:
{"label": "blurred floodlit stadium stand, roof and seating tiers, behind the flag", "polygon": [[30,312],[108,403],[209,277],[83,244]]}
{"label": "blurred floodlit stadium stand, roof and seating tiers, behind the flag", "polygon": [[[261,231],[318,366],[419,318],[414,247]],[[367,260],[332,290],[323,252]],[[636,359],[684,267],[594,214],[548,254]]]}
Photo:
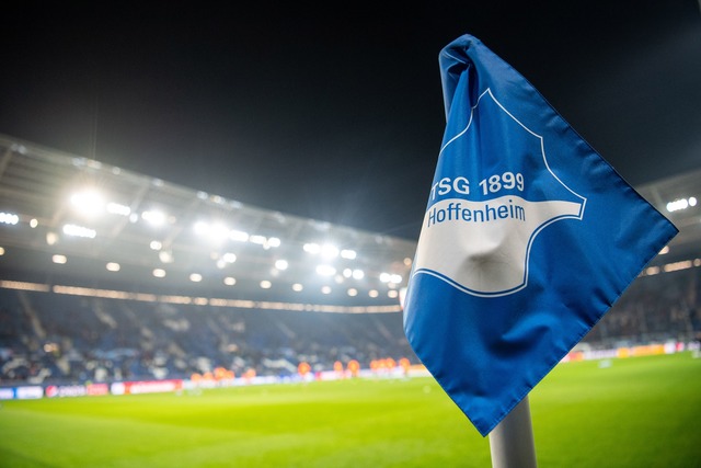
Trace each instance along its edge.
{"label": "blurred floodlit stadium stand, roof and seating tiers, behind the flag", "polygon": [[[0,155],[0,387],[418,363],[400,306],[414,241],[246,206],[1,135]],[[701,339],[700,178],[636,187],[680,233],[581,347]],[[104,216],[77,213],[76,195],[99,199],[85,199],[77,181],[110,197]],[[154,206],[164,213],[158,228]],[[338,249],[319,265],[310,259],[324,253],[323,241]],[[332,275],[319,269],[332,265]]]}

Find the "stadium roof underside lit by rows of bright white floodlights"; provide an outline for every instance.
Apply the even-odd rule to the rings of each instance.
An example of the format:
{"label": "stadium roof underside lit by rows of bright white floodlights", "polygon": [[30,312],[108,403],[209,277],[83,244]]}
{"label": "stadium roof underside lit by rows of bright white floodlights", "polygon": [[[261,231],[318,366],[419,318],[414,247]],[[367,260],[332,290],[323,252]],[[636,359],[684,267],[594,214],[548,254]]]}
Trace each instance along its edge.
{"label": "stadium roof underside lit by rows of bright white floodlights", "polygon": [[[680,229],[651,265],[699,262],[699,180],[636,187]],[[1,135],[0,199],[5,281],[397,311],[416,247]]]}

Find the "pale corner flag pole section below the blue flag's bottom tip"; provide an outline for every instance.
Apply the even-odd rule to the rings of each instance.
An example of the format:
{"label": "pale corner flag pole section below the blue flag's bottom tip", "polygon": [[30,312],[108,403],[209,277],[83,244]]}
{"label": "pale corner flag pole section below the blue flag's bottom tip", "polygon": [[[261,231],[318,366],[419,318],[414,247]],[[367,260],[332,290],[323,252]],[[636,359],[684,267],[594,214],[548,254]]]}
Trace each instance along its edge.
{"label": "pale corner flag pole section below the blue flag's bottom tip", "polygon": [[528,395],[490,433],[493,468],[536,468]]}

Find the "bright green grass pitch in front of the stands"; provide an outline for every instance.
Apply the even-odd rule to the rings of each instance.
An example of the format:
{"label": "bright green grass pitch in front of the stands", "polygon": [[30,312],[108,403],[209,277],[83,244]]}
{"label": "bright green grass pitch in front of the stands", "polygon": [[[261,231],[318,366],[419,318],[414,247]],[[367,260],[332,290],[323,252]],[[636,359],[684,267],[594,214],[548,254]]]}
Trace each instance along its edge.
{"label": "bright green grass pitch in front of the stands", "polygon": [[[701,467],[701,358],[558,366],[530,393],[541,467]],[[2,467],[490,467],[432,378],[3,401]]]}

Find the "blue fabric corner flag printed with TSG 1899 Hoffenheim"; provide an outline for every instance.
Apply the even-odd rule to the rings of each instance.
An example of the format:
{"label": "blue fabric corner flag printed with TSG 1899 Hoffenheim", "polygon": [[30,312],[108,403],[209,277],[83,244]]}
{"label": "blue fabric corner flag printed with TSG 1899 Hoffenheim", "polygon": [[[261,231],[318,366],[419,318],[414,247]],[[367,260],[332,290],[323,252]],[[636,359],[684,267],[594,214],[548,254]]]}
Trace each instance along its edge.
{"label": "blue fabric corner flag printed with TSG 1899 Hoffenheim", "polygon": [[447,124],[404,331],[485,436],[678,231],[479,39],[439,64]]}

